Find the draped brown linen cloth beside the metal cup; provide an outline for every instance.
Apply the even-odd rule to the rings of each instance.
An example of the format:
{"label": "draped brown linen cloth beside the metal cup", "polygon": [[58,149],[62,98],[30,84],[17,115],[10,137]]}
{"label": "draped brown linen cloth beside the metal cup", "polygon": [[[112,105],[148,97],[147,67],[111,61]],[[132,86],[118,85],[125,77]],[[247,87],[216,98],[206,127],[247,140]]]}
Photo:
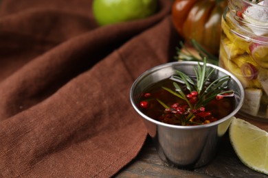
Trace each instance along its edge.
{"label": "draped brown linen cloth beside the metal cup", "polygon": [[170,59],[172,1],[106,27],[91,3],[1,1],[0,177],[111,177],[142,148],[129,91]]}

